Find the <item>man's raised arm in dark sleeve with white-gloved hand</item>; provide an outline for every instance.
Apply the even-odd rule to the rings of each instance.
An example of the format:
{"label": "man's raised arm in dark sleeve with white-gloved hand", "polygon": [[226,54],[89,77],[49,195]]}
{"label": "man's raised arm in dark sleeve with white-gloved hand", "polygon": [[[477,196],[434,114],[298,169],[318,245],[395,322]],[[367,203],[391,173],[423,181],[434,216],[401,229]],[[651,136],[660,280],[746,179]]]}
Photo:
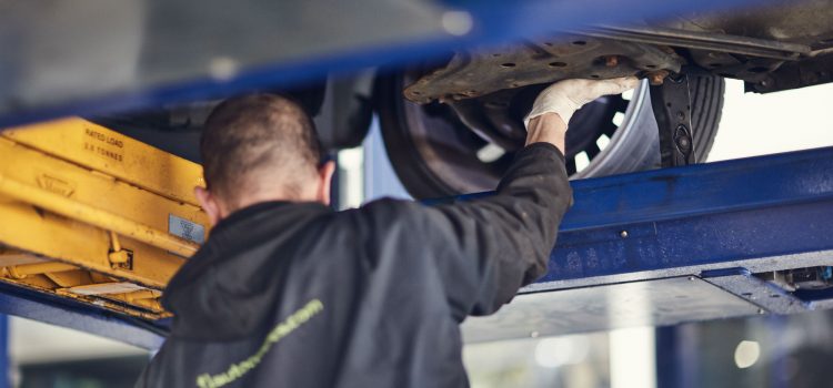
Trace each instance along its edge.
{"label": "man's raised arm in dark sleeve with white-gloved hand", "polygon": [[635,78],[566,80],[545,89],[524,120],[526,146],[495,195],[428,208],[423,228],[452,313],[491,314],[543,276],[572,190],[564,165],[566,123],[583,104],[634,88]]}

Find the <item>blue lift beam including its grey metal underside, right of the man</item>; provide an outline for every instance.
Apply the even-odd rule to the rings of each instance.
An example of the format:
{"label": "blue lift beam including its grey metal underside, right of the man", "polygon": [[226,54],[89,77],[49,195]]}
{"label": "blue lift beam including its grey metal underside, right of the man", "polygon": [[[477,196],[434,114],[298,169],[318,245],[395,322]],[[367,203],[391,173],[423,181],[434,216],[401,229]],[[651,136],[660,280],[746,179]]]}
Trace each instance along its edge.
{"label": "blue lift beam including its grey metal underside, right of the man", "polygon": [[[833,149],[573,182],[549,273],[469,341],[833,307],[752,274],[833,265]],[[458,200],[465,201],[469,196]]]}

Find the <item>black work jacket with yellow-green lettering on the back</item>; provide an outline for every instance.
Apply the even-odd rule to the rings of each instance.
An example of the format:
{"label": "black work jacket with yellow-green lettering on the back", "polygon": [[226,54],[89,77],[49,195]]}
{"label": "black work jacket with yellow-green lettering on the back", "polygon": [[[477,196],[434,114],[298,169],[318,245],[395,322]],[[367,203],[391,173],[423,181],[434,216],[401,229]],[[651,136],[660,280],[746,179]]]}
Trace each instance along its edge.
{"label": "black work jacket with yellow-green lettering on the back", "polygon": [[171,335],[137,386],[466,387],[459,324],[544,274],[571,203],[539,143],[468,202],[235,212],[170,282]]}

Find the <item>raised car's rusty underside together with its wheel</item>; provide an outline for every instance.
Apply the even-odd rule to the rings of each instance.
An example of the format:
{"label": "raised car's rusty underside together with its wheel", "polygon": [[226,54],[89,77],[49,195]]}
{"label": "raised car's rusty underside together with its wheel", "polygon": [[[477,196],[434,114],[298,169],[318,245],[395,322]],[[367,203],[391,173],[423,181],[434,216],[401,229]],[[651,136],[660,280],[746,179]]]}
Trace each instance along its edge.
{"label": "raised car's rusty underside together with its wheel", "polygon": [[[648,88],[680,74],[691,80],[693,154],[705,160],[720,122],[722,79],[743,80],[746,91],[757,93],[832,80],[829,6],[781,2],[730,16],[590,27],[415,64],[378,90],[394,167],[419,197],[489,190],[523,146],[522,119],[543,88],[563,79],[624,75],[646,82],[629,100],[600,99],[571,121],[569,173],[588,177],[660,166]],[[390,89],[395,92],[383,94]],[[419,106],[397,101],[400,92]]]}

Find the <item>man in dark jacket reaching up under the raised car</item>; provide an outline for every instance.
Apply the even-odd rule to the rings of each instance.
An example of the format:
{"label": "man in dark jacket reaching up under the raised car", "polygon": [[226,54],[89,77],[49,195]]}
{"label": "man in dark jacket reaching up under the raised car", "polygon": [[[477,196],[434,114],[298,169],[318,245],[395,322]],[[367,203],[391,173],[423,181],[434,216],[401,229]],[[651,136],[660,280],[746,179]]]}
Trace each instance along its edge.
{"label": "man in dark jacket reaching up under the raised car", "polygon": [[230,99],[200,152],[212,224],[168,285],[171,334],[140,387],[465,387],[459,324],[546,269],[572,203],[564,135],[575,110],[635,78],[568,80],[524,121],[496,194],[330,210],[310,118],[269,94]]}

